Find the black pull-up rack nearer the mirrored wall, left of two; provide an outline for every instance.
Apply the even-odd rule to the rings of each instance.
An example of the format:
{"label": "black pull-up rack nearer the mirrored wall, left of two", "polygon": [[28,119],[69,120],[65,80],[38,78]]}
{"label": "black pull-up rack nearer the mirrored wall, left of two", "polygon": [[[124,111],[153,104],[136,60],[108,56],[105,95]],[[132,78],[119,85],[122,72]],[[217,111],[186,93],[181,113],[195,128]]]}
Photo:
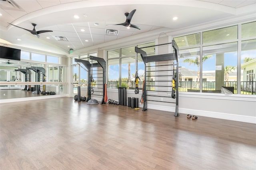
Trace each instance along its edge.
{"label": "black pull-up rack nearer the mirrored wall, left of two", "polygon": [[[89,59],[91,60],[91,62],[84,59],[75,59],[75,62],[82,63],[86,67],[87,69],[86,71],[88,71],[88,88],[87,88],[86,101],[89,101],[92,98],[92,95],[96,95],[96,96],[102,96],[102,101],[100,104],[104,104],[104,96],[105,96],[104,84],[106,83],[106,61],[103,58],[94,57],[92,55],[89,56]],[[93,63],[93,61],[97,61],[97,63]],[[97,68],[97,70],[92,69],[95,67]],[[101,67],[102,69],[98,69],[98,67]],[[94,73],[94,71],[96,71],[96,73]],[[97,89],[102,89],[102,91],[93,90],[92,88],[93,79],[97,79],[96,81],[97,83],[94,85],[97,85]],[[99,83],[99,82],[102,82],[102,83]],[[102,95],[101,95],[101,92],[102,92]]]}

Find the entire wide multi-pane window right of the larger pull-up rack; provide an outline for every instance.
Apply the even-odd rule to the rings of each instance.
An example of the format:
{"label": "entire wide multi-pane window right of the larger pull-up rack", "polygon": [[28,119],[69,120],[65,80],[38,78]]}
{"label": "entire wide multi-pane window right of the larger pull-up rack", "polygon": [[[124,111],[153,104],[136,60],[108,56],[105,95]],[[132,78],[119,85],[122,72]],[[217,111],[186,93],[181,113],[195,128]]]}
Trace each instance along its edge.
{"label": "entire wide multi-pane window right of the larger pull-up rack", "polygon": [[240,26],[241,32],[236,25],[174,38],[182,54],[180,91],[221,93],[226,88],[234,94],[256,94],[256,22]]}

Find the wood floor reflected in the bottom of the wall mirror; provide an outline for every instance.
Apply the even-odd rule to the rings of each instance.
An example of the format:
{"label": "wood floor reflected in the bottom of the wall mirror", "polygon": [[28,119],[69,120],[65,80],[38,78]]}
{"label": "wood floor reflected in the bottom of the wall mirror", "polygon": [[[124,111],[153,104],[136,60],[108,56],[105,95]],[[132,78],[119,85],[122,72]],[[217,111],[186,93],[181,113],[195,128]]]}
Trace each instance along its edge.
{"label": "wood floor reflected in the bottom of the wall mirror", "polygon": [[23,97],[37,97],[42,96],[41,93],[33,94],[32,91],[24,91],[21,89],[4,89],[0,90],[0,99],[16,99],[16,98],[23,98]]}

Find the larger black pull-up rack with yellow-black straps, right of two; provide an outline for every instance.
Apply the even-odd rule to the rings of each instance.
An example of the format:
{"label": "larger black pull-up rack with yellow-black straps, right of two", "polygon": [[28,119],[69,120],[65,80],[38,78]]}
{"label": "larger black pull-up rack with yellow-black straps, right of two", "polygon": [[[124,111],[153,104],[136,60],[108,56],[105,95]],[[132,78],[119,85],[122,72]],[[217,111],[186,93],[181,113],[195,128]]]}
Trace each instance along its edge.
{"label": "larger black pull-up rack with yellow-black straps, right of two", "polygon": [[[142,48],[155,47],[159,45],[172,44],[173,53],[147,56],[147,53]],[[174,116],[179,116],[178,113],[178,75],[179,75],[179,51],[178,45],[174,40],[171,43],[164,43],[158,45],[151,45],[147,47],[135,47],[135,52],[140,53],[142,61],[145,65],[144,74],[144,87],[142,94],[143,109],[146,111],[148,108],[148,101],[152,102],[164,102],[164,103],[176,103]],[[168,61],[158,62],[158,61]],[[169,62],[170,61],[170,62]],[[174,62],[176,61],[176,63]],[[155,65],[148,65],[148,63],[158,62]],[[153,69],[154,68],[154,69]],[[152,75],[154,74],[154,75]],[[150,77],[154,77],[152,81]],[[154,84],[152,84],[154,82]],[[159,95],[159,94],[160,95]],[[176,99],[175,102],[172,100]]]}

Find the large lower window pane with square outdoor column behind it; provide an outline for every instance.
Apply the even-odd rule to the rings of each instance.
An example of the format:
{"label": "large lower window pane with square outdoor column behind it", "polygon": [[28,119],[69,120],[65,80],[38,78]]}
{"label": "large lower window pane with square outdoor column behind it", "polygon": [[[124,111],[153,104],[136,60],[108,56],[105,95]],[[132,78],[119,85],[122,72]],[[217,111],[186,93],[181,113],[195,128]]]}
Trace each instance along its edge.
{"label": "large lower window pane with square outdoor column behind it", "polygon": [[237,89],[237,43],[203,47],[203,93],[221,93],[221,88]]}

